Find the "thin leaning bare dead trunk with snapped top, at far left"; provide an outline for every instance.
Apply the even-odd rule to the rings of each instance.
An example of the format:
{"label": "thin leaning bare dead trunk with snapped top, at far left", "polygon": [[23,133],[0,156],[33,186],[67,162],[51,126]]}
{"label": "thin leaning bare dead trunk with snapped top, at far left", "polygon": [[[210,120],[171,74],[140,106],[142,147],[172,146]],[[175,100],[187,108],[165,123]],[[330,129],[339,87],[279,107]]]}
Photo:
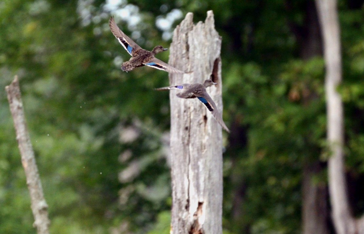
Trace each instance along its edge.
{"label": "thin leaning bare dead trunk with snapped top, at far left", "polygon": [[43,190],[39,179],[38,168],[35,162],[32,143],[30,142],[27,124],[25,123],[23,102],[19,88],[19,80],[15,76],[9,86],[5,87],[8,94],[11,115],[14,121],[16,140],[19,145],[21,163],[23,164],[27,186],[31,198],[31,208],[34,216],[33,226],[37,228],[37,233],[49,233],[48,227],[48,205],[43,196]]}

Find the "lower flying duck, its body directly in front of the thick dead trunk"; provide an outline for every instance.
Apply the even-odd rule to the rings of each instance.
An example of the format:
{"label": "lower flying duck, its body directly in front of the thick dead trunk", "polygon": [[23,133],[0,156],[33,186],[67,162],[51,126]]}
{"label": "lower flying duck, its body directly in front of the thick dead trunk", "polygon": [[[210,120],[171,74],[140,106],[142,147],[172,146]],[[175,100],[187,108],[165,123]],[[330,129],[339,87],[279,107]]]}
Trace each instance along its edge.
{"label": "lower flying duck, its body directly in front of the thick dead trunk", "polygon": [[176,86],[169,86],[169,87],[162,87],[162,88],[156,88],[155,90],[182,90],[182,92],[179,92],[177,94],[177,97],[179,98],[198,98],[209,111],[214,116],[214,118],[217,120],[217,122],[221,125],[223,129],[225,129],[227,132],[230,132],[229,128],[226,127],[224,121],[222,120],[222,117],[217,110],[216,104],[210,97],[210,95],[207,93],[206,88],[215,85],[217,83],[213,82],[212,80],[205,80],[203,84],[200,83],[193,83],[193,84],[181,84]]}

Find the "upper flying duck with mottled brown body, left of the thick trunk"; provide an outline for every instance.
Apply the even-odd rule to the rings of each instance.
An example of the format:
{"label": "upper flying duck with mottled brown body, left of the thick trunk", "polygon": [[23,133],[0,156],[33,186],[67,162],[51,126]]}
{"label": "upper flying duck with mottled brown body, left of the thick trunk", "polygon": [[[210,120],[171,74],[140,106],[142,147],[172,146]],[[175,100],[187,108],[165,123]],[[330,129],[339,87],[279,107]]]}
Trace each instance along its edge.
{"label": "upper flying duck with mottled brown body, left of the thick trunk", "polygon": [[169,64],[162,62],[161,60],[154,57],[155,54],[167,50],[162,45],[157,45],[152,51],[147,51],[140,47],[137,43],[131,40],[125,35],[115,23],[114,17],[110,18],[109,26],[112,34],[118,39],[120,44],[128,51],[131,55],[129,61],[121,64],[121,70],[131,71],[135,67],[142,67],[144,65],[157,68],[170,73],[185,73],[177,68],[170,66]]}

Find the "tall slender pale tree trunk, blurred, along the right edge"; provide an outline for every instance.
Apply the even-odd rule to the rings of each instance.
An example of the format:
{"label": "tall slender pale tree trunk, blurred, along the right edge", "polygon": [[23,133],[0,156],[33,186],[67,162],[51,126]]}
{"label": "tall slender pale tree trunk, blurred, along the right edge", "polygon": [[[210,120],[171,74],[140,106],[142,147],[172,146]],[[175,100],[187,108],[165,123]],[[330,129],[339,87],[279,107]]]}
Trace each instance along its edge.
{"label": "tall slender pale tree trunk, blurred, along the right edge", "polygon": [[341,83],[341,45],[336,0],[316,0],[324,41],[326,67],[325,95],[327,109],[327,141],[331,150],[328,180],[332,219],[338,234],[364,233],[363,217],[351,213],[344,171],[344,112],[343,102],[336,91]]}

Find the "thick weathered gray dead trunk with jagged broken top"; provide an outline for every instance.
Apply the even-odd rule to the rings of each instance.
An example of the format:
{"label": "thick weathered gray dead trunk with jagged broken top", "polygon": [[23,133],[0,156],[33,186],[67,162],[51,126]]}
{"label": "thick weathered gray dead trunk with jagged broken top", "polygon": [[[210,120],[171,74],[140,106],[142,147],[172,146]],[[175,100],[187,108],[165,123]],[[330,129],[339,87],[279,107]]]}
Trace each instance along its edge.
{"label": "thick weathered gray dead trunk with jagged broken top", "polygon": [[[173,33],[169,64],[188,74],[170,74],[170,84],[218,83],[207,92],[222,113],[221,37],[212,11],[205,23],[193,14]],[[222,233],[222,129],[197,98],[182,99],[170,91],[171,233]]]}

